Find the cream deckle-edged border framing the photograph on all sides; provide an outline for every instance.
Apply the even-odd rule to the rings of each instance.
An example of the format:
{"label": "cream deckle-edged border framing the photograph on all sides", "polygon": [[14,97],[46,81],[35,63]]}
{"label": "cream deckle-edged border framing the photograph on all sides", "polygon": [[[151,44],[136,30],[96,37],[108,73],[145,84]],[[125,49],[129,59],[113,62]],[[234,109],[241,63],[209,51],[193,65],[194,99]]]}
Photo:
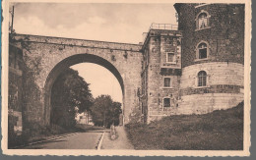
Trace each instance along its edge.
{"label": "cream deckle-edged border framing the photograph on all sides", "polygon": [[[133,156],[249,156],[250,142],[250,64],[251,64],[251,1],[249,0],[215,0],[215,3],[245,3],[245,56],[244,56],[244,150],[242,151],[209,151],[209,150],[70,150],[70,149],[7,149],[7,116],[8,115],[8,22],[9,2],[61,2],[61,3],[204,3],[205,0],[3,0],[2,9],[2,150],[8,155],[133,155]],[[209,2],[209,1],[207,1]]]}

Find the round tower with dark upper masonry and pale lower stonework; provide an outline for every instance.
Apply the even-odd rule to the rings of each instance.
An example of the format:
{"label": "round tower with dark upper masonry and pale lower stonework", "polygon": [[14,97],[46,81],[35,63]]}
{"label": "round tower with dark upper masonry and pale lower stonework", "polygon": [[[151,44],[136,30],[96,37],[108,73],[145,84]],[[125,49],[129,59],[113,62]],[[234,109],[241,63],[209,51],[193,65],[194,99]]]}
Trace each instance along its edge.
{"label": "round tower with dark upper masonry and pale lower stonework", "polygon": [[244,5],[174,5],[183,31],[179,110],[204,114],[243,100]]}

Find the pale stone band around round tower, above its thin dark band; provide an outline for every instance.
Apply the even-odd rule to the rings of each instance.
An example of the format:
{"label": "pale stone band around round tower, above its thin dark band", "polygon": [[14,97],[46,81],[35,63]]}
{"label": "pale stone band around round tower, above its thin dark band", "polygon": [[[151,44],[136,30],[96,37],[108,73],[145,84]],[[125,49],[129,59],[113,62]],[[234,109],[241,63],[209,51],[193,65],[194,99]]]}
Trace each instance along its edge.
{"label": "pale stone band around round tower, above its thin dark band", "polygon": [[243,86],[243,65],[237,63],[212,62],[197,64],[182,69],[180,88],[197,87],[197,74],[205,71],[208,75],[207,85],[229,84]]}

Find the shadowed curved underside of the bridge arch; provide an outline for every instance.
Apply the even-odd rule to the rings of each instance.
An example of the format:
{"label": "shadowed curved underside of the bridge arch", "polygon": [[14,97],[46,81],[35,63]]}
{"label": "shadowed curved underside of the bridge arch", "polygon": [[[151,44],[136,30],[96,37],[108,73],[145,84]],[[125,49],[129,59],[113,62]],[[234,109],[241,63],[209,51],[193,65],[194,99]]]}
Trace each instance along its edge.
{"label": "shadowed curved underside of the bridge arch", "polygon": [[[61,72],[63,72],[65,69],[79,64],[79,63],[94,63],[97,65],[100,65],[104,68],[106,68],[108,71],[110,71],[115,78],[119,81],[122,94],[123,94],[123,105],[124,105],[124,83],[123,79],[118,72],[118,70],[107,60],[98,57],[96,55],[92,54],[77,54],[70,57],[67,57],[66,59],[59,62],[49,73],[45,84],[44,84],[44,122],[45,125],[50,124],[50,109],[51,109],[51,88],[54,83],[54,81],[58,78]],[[123,106],[124,107],[124,106]]]}

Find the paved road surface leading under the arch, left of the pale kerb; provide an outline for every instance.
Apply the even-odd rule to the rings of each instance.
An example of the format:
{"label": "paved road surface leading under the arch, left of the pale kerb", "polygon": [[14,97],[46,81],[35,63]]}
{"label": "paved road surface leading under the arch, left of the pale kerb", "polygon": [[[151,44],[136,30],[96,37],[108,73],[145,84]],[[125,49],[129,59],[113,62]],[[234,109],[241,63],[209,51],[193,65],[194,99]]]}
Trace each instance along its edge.
{"label": "paved road surface leading under the arch, left of the pale kerb", "polygon": [[77,133],[68,137],[27,146],[23,149],[96,149],[102,132],[103,130]]}

